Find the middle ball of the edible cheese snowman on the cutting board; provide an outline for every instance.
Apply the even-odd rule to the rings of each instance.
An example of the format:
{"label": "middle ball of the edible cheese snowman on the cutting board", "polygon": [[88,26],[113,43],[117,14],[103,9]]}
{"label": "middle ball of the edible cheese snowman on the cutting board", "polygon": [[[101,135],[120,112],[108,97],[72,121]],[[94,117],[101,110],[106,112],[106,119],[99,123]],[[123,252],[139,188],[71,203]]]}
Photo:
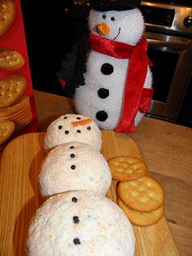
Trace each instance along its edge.
{"label": "middle ball of the edible cheese snowman on the cutting board", "polygon": [[[74,170],[72,165],[76,166]],[[104,196],[111,185],[111,170],[103,155],[88,144],[65,143],[47,155],[39,183],[42,196],[71,190],[89,190]]]}

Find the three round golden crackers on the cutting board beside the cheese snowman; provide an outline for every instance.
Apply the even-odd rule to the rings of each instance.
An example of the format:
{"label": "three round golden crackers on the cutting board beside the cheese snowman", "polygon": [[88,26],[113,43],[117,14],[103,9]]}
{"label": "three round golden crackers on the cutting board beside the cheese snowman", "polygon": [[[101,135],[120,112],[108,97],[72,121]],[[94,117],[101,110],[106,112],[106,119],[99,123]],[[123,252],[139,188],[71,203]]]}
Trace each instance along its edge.
{"label": "three round golden crackers on the cutting board beside the cheese snowman", "polygon": [[164,191],[148,176],[144,161],[129,156],[108,161],[116,186],[117,204],[136,226],[155,224],[164,215]]}

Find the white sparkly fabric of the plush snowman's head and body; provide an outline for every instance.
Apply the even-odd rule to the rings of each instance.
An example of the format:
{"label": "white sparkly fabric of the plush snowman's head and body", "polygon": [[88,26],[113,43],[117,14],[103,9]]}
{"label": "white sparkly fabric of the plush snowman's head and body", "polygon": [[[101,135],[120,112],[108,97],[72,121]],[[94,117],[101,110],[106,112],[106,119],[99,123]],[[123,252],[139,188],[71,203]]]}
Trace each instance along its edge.
{"label": "white sparkly fabric of the plush snowman's head and body", "polygon": [[[103,19],[103,14],[106,19]],[[111,21],[111,17],[115,20]],[[104,38],[114,39],[120,28],[120,34],[115,39],[136,45],[144,31],[144,21],[141,11],[137,8],[129,11],[94,11],[89,14],[89,30],[97,34],[96,26],[100,23],[110,26],[110,33]],[[103,75],[101,67],[103,64],[111,64],[114,72]],[[129,69],[129,60],[120,60],[107,55],[90,51],[86,64],[85,86],[76,88],[74,95],[76,113],[91,117],[97,122],[102,130],[114,130],[118,125],[124,105],[124,84]],[[151,87],[151,71],[148,68],[145,87]],[[106,99],[98,97],[98,90],[105,88],[109,90]],[[96,113],[104,110],[108,114],[106,121],[98,121]],[[137,113],[136,125],[141,121],[143,114]]]}

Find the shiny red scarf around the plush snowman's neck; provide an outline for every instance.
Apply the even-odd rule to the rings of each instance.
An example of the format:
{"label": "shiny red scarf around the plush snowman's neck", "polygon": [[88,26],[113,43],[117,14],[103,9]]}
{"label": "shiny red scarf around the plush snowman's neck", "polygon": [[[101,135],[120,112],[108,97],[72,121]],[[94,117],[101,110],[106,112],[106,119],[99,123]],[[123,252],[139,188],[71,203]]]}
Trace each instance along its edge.
{"label": "shiny red scarf around the plush snowman's neck", "polygon": [[146,55],[148,46],[146,39],[141,38],[136,46],[131,46],[124,42],[116,42],[90,33],[89,46],[94,51],[104,55],[130,60],[124,88],[124,108],[116,131],[133,132],[135,130],[134,118],[137,110],[146,113],[151,106],[153,95],[153,89],[143,88],[149,64]]}

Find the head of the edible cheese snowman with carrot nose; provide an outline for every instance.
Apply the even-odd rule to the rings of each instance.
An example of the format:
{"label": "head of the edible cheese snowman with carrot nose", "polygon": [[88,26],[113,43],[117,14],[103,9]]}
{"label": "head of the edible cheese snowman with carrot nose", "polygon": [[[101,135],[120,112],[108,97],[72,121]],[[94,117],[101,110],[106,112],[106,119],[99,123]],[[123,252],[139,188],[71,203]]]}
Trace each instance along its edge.
{"label": "head of the edible cheese snowman with carrot nose", "polygon": [[[64,117],[68,118],[64,119]],[[66,114],[53,121],[46,131],[45,148],[53,148],[62,143],[77,141],[88,143],[99,151],[102,146],[102,137],[98,125],[92,120],[85,126],[73,127],[72,121],[80,121],[76,119],[77,117],[80,117],[81,120],[89,118],[82,115]],[[59,130],[59,126],[62,126],[61,130]],[[87,130],[88,126],[91,127],[90,130]],[[68,135],[65,134],[65,130],[69,131]],[[81,130],[81,133],[77,133],[76,130]]]}

